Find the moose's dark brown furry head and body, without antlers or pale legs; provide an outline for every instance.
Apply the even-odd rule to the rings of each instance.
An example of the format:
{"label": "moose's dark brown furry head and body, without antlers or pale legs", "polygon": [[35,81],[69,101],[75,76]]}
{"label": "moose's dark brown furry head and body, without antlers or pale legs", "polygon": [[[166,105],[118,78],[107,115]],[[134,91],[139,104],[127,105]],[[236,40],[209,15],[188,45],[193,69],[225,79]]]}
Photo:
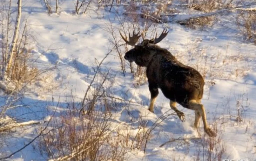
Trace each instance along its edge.
{"label": "moose's dark brown furry head and body, without antlers or pale legs", "polygon": [[203,77],[179,62],[168,50],[154,44],[136,46],[126,53],[125,58],[147,67],[149,90],[153,96],[160,88],[165,97],[187,108],[189,100],[202,99]]}

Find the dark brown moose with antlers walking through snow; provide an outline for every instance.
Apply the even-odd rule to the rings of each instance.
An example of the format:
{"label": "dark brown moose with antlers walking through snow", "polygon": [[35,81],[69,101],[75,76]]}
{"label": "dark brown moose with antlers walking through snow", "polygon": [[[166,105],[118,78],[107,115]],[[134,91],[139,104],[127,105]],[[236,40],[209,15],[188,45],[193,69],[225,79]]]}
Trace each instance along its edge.
{"label": "dark brown moose with antlers walking through snow", "polygon": [[[142,34],[140,31],[137,34],[133,31],[132,36],[129,33],[129,40],[120,32],[122,39],[134,47],[126,52],[124,59],[146,67],[151,96],[148,109],[150,112],[154,112],[154,103],[159,94],[158,89],[161,89],[163,95],[170,100],[171,109],[176,112],[181,121],[185,121],[184,113],[176,108],[176,103],[195,111],[194,128],[197,129],[198,122],[202,117],[204,131],[209,137],[215,137],[215,132],[208,127],[206,112],[201,104],[203,77],[194,68],[179,62],[167,49],[156,45],[167,36],[168,32],[167,29],[164,29],[159,37],[156,33],[155,38],[150,40],[144,39],[143,31]],[[141,35],[143,41],[135,45]]]}

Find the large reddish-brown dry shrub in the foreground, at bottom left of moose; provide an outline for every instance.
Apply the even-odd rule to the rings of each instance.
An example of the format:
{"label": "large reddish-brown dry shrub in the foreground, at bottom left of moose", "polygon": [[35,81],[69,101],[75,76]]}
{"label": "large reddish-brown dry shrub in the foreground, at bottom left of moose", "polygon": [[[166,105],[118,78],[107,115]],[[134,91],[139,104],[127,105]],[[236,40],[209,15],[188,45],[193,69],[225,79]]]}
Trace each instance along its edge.
{"label": "large reddish-brown dry shrub in the foreground, at bottom left of moose", "polygon": [[53,160],[124,160],[126,141],[113,130],[116,124],[109,111],[79,117],[78,104],[68,105],[52,119],[50,128],[55,130],[42,135],[34,146],[42,155]]}

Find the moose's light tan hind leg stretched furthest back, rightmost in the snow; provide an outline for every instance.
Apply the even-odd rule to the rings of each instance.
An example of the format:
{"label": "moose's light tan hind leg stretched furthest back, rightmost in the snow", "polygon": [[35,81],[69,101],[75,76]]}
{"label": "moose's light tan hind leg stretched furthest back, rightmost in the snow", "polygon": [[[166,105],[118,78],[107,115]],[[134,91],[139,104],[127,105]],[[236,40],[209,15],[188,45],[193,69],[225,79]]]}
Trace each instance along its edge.
{"label": "moose's light tan hind leg stretched furthest back, rightmost in the snow", "polygon": [[203,120],[204,131],[210,137],[215,137],[216,134],[213,131],[211,131],[210,128],[208,127],[207,120],[206,120],[206,112],[204,110],[204,106],[202,104],[198,103],[196,100],[190,100],[189,101],[189,108],[191,110],[195,110],[195,111],[200,112],[200,115],[201,115],[202,120]]}

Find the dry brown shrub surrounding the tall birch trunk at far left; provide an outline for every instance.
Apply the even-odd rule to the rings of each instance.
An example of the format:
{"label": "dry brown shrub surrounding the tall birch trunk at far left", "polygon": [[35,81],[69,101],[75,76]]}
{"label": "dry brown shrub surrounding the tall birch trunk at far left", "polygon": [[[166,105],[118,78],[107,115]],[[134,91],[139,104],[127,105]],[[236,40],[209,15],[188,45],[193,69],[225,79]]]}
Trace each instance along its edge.
{"label": "dry brown shrub surrounding the tall birch trunk at far left", "polygon": [[[11,44],[15,28],[12,16],[15,12],[11,10],[11,1],[1,1],[0,3],[2,5],[0,9],[0,70],[5,72],[11,57]],[[27,21],[21,22],[10,69],[6,74],[1,73],[1,76],[6,75],[8,80],[12,81],[13,86],[31,83],[38,79],[42,73],[37,68],[36,60],[32,54],[34,41],[33,35],[29,32]]]}

